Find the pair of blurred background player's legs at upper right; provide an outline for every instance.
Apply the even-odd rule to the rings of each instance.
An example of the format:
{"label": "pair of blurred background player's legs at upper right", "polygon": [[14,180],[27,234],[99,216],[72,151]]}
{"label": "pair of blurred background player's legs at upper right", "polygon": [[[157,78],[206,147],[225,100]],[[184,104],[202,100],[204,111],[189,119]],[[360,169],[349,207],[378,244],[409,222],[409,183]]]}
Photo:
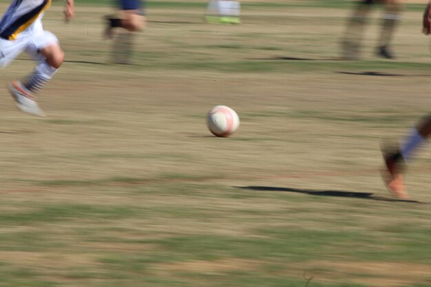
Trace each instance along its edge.
{"label": "pair of blurred background player's legs at upper right", "polygon": [[361,0],[357,4],[342,42],[343,58],[346,60],[359,59],[359,50],[368,14],[372,6],[381,3],[385,6],[381,33],[377,44],[377,56],[384,59],[394,59],[390,51],[390,42],[400,19],[401,0]]}

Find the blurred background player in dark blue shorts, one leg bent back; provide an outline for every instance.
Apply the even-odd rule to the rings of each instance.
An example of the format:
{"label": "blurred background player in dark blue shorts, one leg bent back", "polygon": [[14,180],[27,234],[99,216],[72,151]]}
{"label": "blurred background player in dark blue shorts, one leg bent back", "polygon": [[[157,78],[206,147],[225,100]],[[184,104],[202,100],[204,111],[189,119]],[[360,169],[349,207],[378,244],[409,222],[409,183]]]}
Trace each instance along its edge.
{"label": "blurred background player in dark blue shorts, one leg bent back", "polygon": [[114,62],[127,64],[132,56],[134,32],[145,26],[144,3],[140,0],[116,0],[116,3],[118,13],[106,17],[105,38],[112,39],[116,28],[121,29],[114,39]]}

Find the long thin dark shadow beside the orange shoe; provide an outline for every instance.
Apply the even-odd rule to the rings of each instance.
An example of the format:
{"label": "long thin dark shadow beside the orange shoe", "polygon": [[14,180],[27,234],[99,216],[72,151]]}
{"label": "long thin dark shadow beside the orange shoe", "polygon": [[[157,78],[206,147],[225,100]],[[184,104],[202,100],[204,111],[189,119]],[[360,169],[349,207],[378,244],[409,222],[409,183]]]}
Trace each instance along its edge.
{"label": "long thin dark shadow beside the orange shoe", "polygon": [[291,193],[304,193],[308,195],[331,196],[336,198],[361,198],[366,200],[379,200],[379,201],[387,201],[387,202],[409,202],[409,203],[428,204],[428,202],[419,202],[417,200],[397,200],[396,198],[385,198],[383,196],[375,196],[374,193],[368,193],[368,192],[316,191],[312,189],[292,189],[289,187],[261,187],[261,186],[236,187],[236,188],[250,189],[252,191],[281,191],[281,192],[291,192]]}

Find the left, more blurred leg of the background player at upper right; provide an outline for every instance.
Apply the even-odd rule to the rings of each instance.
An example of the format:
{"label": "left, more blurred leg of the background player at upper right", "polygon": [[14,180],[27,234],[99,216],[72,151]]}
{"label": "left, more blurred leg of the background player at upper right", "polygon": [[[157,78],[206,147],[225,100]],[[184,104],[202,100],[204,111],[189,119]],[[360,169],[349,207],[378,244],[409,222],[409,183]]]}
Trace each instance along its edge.
{"label": "left, more blurred leg of the background player at upper right", "polygon": [[355,7],[352,16],[348,20],[346,32],[342,41],[342,56],[346,60],[359,58],[359,46],[372,5],[375,0],[361,0]]}

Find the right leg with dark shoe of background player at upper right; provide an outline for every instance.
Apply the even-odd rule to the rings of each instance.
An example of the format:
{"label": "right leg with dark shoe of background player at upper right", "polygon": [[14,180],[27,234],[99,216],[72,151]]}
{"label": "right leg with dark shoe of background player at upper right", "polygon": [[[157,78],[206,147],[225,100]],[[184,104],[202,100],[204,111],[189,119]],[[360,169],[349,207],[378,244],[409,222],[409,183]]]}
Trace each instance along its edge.
{"label": "right leg with dark shoe of background player at upper right", "polygon": [[381,26],[381,34],[377,54],[385,59],[394,59],[395,56],[390,52],[390,42],[392,40],[397,23],[400,19],[401,3],[399,0],[385,1],[385,14]]}

